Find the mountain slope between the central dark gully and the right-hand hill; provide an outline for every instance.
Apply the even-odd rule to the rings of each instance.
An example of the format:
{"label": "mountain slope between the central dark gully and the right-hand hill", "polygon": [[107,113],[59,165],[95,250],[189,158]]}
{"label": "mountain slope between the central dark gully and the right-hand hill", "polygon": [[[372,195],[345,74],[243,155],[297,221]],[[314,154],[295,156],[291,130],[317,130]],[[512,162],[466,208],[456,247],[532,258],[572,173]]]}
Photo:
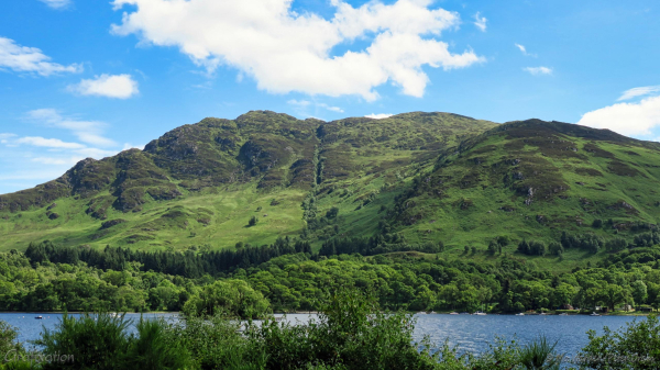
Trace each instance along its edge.
{"label": "mountain slope between the central dark gully and the right-hand hill", "polygon": [[[339,235],[373,235],[384,215],[381,206],[392,206],[394,197],[431,168],[440,153],[495,126],[457,114],[422,112],[328,123],[319,134],[322,181],[314,190],[319,215],[337,206]],[[315,244],[319,246],[323,233],[316,236],[321,237]]]}

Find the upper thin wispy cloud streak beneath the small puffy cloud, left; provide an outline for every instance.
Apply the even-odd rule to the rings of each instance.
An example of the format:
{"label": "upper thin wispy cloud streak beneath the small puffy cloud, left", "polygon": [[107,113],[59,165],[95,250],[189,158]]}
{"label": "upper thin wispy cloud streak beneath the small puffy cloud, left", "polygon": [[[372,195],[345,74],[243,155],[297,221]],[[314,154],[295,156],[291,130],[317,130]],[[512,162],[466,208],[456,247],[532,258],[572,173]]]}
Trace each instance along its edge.
{"label": "upper thin wispy cloud streak beneath the small puffy cloud, left", "polygon": [[113,141],[101,135],[106,127],[106,124],[102,122],[65,117],[56,110],[50,108],[30,111],[28,112],[28,117],[52,127],[69,130],[82,143],[101,147],[117,145]]}

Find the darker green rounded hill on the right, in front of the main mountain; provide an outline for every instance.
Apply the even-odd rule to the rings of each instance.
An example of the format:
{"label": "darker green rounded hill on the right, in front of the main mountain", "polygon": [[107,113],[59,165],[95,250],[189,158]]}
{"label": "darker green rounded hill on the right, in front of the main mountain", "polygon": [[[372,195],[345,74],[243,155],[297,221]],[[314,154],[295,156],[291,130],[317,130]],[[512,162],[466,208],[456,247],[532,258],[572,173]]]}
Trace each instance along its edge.
{"label": "darker green rounded hill on the right, in front of the main mountain", "polygon": [[[396,215],[398,229],[409,242],[442,239],[460,255],[463,246],[484,249],[498,235],[516,240],[556,239],[562,231],[625,236],[632,222],[658,223],[660,146],[556,125],[505,124],[443,157],[402,201],[408,206]],[[618,232],[591,227],[596,218],[612,218]],[[570,251],[562,264],[587,257]]]}

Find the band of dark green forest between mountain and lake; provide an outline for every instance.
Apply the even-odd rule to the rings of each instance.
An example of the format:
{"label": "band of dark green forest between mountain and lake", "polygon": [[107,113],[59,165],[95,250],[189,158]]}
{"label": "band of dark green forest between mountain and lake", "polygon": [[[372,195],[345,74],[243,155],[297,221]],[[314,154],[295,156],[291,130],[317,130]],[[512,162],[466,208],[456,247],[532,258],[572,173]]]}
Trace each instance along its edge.
{"label": "band of dark green forest between mountain and lake", "polygon": [[[650,232],[649,237],[657,234]],[[580,237],[562,239],[557,242],[560,248]],[[602,244],[607,248],[613,243],[620,244],[616,239]],[[639,243],[623,250],[608,248],[600,262],[560,273],[542,269],[520,253],[468,250],[454,258],[441,251],[441,245],[399,245],[402,251],[369,256],[370,239],[327,243],[318,254],[306,243],[288,238],[262,247],[186,253],[96,250],[45,242],[30,245],[25,253],[0,254],[0,310],[211,314],[220,305],[256,317],[267,312],[318,311],[339,287],[373,294],[387,311],[514,313],[569,305],[657,310],[660,246]],[[541,242],[520,242],[525,244]],[[490,259],[476,262],[474,254]],[[238,295],[251,299],[213,301],[233,291],[248,292]]]}

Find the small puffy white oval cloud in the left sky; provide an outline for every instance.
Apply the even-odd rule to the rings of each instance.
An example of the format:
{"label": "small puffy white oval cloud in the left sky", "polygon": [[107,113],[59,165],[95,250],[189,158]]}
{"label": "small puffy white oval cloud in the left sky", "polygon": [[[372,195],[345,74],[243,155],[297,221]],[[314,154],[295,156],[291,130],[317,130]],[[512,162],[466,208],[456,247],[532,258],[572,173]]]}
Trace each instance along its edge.
{"label": "small puffy white oval cloud in the left sky", "polygon": [[139,92],[138,82],[131,75],[101,75],[95,79],[84,79],[70,85],[69,91],[95,97],[129,99]]}

